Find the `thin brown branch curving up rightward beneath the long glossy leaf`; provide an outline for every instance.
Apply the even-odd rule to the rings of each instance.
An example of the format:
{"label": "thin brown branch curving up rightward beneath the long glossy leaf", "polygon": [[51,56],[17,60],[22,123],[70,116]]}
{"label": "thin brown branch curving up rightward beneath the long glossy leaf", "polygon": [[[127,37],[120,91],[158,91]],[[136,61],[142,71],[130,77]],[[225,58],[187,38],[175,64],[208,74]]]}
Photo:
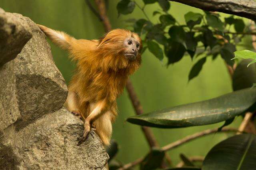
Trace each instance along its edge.
{"label": "thin brown branch curving up rightward beneath the long glossy leaf", "polygon": [[[196,138],[200,138],[202,136],[206,136],[209,134],[213,134],[218,132],[218,128],[216,129],[208,129],[208,130],[204,130],[202,132],[197,132],[195,134],[186,136],[185,138],[182,138],[180,140],[177,140],[176,142],[173,142],[171,144],[168,144],[164,147],[162,147],[161,149],[164,151],[168,151],[170,149],[176,148],[182,144],[185,144],[186,142],[190,142],[191,140],[194,140]],[[238,130],[236,128],[223,128],[220,132],[238,132]],[[138,158],[137,160],[135,160],[134,162],[130,162],[128,164],[125,164],[122,168],[118,168],[118,170],[127,170],[129,168],[132,168],[133,166],[136,166],[137,164],[140,164],[142,162],[143,158]]]}

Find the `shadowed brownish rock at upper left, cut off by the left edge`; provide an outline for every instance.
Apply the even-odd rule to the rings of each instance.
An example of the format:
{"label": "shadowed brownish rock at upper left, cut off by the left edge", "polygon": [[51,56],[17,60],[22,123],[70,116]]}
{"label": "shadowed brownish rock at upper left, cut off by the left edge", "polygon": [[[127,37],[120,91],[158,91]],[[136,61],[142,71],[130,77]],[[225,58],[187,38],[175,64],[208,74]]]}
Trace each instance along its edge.
{"label": "shadowed brownish rock at upper left, cut off by the left edge", "polygon": [[28,24],[18,15],[0,9],[0,66],[14,59],[32,37]]}

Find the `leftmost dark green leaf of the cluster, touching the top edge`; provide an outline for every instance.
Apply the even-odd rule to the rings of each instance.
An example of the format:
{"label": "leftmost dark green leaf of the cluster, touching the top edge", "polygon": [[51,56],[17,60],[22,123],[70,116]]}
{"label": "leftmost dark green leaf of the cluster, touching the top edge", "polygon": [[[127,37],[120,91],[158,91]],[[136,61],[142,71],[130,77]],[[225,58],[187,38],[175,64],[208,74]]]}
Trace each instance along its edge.
{"label": "leftmost dark green leaf of the cluster, touching the top edge", "polygon": [[130,14],[135,8],[135,3],[131,0],[121,0],[117,6],[118,14]]}

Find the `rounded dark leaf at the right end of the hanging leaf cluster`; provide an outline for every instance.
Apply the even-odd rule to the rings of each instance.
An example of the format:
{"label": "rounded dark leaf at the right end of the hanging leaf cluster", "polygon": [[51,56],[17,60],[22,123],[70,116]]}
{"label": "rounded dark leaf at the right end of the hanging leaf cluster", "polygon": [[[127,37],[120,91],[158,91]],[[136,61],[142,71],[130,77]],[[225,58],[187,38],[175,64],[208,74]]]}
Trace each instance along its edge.
{"label": "rounded dark leaf at the right end of the hanging leaf cluster", "polygon": [[233,66],[234,60],[234,52],[236,51],[236,46],[234,44],[224,44],[220,50],[221,57],[226,61],[226,63],[230,66]]}

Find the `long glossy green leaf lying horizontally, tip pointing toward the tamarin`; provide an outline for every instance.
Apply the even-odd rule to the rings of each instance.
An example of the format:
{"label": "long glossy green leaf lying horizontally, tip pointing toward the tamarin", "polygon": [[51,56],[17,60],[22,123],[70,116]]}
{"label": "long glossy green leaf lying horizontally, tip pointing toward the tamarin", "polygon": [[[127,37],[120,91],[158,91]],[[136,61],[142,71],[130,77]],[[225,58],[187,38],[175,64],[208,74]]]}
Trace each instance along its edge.
{"label": "long glossy green leaf lying horizontally, tip pointing toward the tamarin", "polygon": [[214,124],[255,109],[256,89],[246,88],[223,96],[133,116],[128,122],[158,128]]}

